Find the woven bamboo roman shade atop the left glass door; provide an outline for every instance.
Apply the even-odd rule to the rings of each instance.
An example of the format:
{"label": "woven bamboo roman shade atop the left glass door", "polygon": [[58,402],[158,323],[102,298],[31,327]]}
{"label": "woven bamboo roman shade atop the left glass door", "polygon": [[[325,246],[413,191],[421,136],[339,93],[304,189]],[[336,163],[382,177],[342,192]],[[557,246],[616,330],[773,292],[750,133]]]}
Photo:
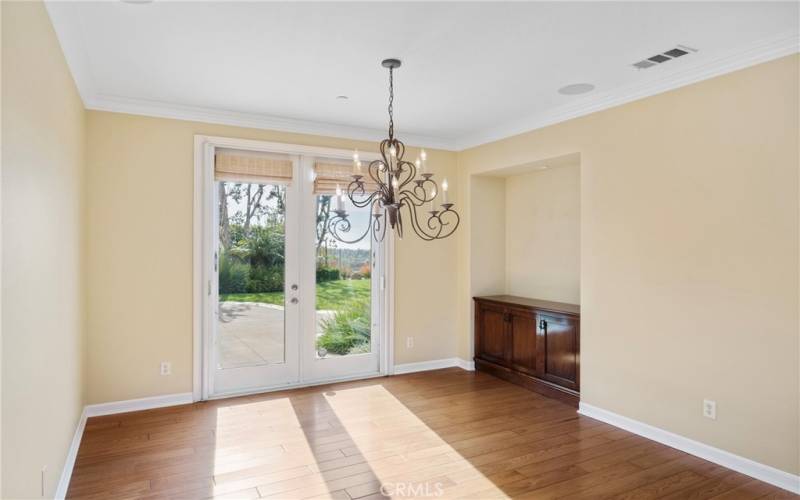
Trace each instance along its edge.
{"label": "woven bamboo roman shade atop the left glass door", "polygon": [[214,161],[214,178],[228,182],[288,184],[292,181],[292,160],[279,154],[219,150]]}

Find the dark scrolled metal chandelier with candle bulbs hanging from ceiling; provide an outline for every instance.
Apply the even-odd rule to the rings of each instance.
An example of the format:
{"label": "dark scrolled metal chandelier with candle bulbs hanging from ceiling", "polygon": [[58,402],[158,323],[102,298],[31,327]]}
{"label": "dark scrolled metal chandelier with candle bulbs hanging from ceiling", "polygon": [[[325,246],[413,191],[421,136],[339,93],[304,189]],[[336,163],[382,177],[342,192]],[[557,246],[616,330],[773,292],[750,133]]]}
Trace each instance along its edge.
{"label": "dark scrolled metal chandelier with candle bulbs hanging from ceiling", "polygon": [[[404,226],[425,241],[447,238],[461,221],[453,203],[447,201],[447,179],[442,181],[442,200],[437,205],[439,186],[427,171],[427,154],[421,150],[414,163],[403,159],[405,145],[394,136],[394,70],[399,59],[385,59],[381,65],[389,69],[389,138],[380,143],[380,155],[362,171],[358,151],[353,153],[352,181],[343,192],[336,187],[336,208],[328,220],[328,230],[343,243],[356,243],[367,235],[383,241],[390,227],[403,237]],[[365,177],[365,175],[368,177]],[[350,235],[350,214],[344,208],[344,197],[358,208],[370,207],[367,228],[362,234]],[[348,238],[348,236],[350,236]]]}

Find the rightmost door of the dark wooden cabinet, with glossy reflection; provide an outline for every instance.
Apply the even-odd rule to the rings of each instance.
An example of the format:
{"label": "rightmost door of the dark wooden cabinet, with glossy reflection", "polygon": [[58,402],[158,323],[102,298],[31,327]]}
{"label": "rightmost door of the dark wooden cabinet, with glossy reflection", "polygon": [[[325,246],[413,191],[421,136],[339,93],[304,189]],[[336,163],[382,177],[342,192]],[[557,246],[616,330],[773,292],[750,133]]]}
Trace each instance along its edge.
{"label": "rightmost door of the dark wooden cabinet, with glossy reflection", "polygon": [[577,318],[536,313],[539,376],[568,389],[579,389],[579,330]]}

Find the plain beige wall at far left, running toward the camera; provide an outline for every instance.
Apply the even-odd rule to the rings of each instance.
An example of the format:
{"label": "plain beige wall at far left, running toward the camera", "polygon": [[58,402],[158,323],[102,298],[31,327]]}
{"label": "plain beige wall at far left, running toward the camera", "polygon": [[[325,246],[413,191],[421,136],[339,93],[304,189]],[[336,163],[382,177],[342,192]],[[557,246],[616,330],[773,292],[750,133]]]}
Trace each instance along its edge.
{"label": "plain beige wall at far left, running toward the camera", "polygon": [[55,493],[84,403],[85,112],[41,3],[2,2],[3,498]]}

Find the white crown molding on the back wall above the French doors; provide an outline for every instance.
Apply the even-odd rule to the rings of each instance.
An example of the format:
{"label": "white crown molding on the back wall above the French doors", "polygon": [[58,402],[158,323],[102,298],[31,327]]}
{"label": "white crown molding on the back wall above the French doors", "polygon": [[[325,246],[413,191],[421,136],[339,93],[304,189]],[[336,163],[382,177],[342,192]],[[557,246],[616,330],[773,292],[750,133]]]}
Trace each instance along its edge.
{"label": "white crown molding on the back wall above the French doors", "polygon": [[[327,137],[340,137],[364,141],[381,141],[386,138],[386,131],[364,127],[354,127],[335,123],[296,120],[261,113],[243,113],[226,111],[200,106],[185,106],[145,99],[95,94],[84,99],[87,109],[111,111],[132,115],[172,118],[203,123],[231,125],[280,132],[294,132]],[[410,146],[452,150],[454,141],[440,137],[403,133],[403,142]]]}

